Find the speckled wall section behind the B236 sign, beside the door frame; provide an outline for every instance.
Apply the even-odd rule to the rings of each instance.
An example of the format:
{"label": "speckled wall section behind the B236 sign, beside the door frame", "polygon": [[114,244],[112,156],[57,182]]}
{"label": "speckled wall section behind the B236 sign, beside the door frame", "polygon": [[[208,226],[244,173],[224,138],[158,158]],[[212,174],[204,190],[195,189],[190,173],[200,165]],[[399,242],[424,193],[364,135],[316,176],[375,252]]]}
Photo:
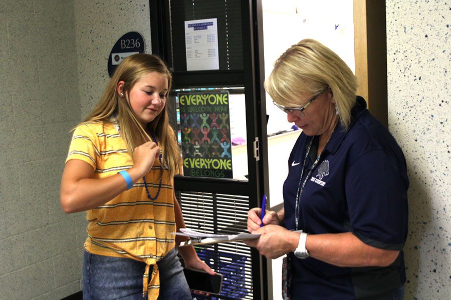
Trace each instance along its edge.
{"label": "speckled wall section behind the B236 sign, beside the door frame", "polygon": [[148,0],[75,0],[78,76],[82,117],[99,101],[109,80],[108,56],[116,41],[138,31],[151,52]]}

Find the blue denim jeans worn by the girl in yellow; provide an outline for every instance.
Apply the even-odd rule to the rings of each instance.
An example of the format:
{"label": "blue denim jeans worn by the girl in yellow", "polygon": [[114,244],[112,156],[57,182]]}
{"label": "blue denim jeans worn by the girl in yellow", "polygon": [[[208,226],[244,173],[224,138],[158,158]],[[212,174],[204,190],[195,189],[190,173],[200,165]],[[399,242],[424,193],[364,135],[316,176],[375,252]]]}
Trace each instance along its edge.
{"label": "blue denim jeans worn by the girl in yellow", "polygon": [[[157,262],[160,272],[158,299],[192,299],[177,253],[174,248]],[[85,251],[83,300],[147,300],[147,296],[142,296],[145,266],[144,262],[131,258],[97,255]]]}

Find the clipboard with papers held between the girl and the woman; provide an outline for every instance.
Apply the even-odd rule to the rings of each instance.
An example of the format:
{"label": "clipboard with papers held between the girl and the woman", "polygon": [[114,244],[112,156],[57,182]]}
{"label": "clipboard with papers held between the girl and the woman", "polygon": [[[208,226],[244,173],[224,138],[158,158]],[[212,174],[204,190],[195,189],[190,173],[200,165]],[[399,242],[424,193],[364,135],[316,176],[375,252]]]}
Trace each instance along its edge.
{"label": "clipboard with papers held between the girl and the woman", "polygon": [[180,231],[181,232],[172,232],[172,234],[188,236],[189,238],[191,238],[190,240],[182,241],[180,243],[180,246],[242,241],[247,239],[256,239],[260,237],[260,234],[252,234],[252,233],[239,233],[239,234],[203,233],[189,228],[180,228]]}

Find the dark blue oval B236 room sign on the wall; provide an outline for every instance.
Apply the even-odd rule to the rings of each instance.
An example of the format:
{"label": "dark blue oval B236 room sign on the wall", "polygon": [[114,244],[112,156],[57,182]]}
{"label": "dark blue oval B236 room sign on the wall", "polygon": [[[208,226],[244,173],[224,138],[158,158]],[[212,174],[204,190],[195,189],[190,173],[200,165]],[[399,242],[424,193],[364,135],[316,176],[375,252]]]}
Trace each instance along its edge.
{"label": "dark blue oval B236 room sign on the wall", "polygon": [[122,35],[114,44],[108,57],[108,74],[113,76],[116,67],[121,61],[130,55],[144,53],[145,41],[142,35],[136,31],[130,31]]}

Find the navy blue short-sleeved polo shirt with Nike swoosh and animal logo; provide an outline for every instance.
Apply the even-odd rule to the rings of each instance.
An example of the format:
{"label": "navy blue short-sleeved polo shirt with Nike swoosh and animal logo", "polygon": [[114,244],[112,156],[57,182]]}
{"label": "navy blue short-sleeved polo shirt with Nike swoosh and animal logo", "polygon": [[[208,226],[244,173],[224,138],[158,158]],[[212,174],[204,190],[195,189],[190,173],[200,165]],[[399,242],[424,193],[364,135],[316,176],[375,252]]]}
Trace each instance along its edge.
{"label": "navy blue short-sleeved polo shirt with Nike swoosh and animal logo", "polygon": [[[408,178],[402,150],[357,96],[351,125],[339,124],[299,197],[299,228],[311,234],[352,232],[364,243],[401,250],[387,267],[339,267],[289,253],[292,299],[381,298],[405,282]],[[316,160],[318,136],[301,133],[288,160],[285,227],[295,229],[295,201],[307,146],[304,178]]]}

